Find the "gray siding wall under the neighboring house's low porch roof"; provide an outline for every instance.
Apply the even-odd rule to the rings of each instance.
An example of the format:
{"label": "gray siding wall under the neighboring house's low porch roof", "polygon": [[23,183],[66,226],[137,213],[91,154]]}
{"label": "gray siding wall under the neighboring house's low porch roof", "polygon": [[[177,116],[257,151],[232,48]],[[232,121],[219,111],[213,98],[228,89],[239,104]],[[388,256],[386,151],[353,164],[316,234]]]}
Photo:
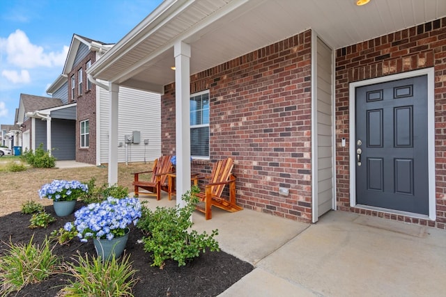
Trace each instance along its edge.
{"label": "gray siding wall under the neighboring house's low porch roof", "polygon": [[52,154],[58,160],[76,159],[76,120],[52,119]]}

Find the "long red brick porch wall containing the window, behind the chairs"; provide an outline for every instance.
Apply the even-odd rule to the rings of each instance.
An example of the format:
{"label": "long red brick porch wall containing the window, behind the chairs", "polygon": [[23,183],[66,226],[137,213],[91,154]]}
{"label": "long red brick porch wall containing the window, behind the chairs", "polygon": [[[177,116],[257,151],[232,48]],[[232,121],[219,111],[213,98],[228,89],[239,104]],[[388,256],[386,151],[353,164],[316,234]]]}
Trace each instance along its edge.
{"label": "long red brick porch wall containing the window, behind the chairs", "polygon": [[[192,171],[231,156],[238,204],[310,222],[310,86],[311,31],[193,74],[191,93],[210,92],[210,161],[193,161]],[[174,83],[164,90],[162,154],[175,154]]]}

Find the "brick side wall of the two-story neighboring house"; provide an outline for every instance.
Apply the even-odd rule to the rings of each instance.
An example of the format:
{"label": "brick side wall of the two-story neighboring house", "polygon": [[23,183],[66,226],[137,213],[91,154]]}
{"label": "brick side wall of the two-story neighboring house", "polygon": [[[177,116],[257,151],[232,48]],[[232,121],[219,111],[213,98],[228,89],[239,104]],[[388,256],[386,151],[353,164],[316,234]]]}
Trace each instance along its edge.
{"label": "brick side wall of the two-story neighboring house", "polygon": [[[77,102],[77,118],[76,118],[76,161],[82,163],[96,163],[96,88],[91,84],[91,90],[86,90],[86,63],[91,60],[91,64],[95,62],[95,52],[90,51],[88,55],[77,65],[72,67],[68,74],[68,98],[71,101],[71,77],[75,76],[75,102]],[[78,71],[82,68],[82,94],[79,95],[78,90]],[[80,122],[89,120],[89,147],[80,147]]]}

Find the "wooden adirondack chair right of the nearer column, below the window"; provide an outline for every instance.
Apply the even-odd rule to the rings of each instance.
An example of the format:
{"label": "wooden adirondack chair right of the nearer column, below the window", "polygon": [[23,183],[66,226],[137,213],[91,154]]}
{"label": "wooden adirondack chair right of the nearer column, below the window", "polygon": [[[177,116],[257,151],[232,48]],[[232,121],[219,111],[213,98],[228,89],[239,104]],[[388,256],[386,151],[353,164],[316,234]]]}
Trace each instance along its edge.
{"label": "wooden adirondack chair right of the nearer column, below the window", "polygon": [[[212,218],[213,206],[231,212],[243,209],[236,204],[236,177],[231,173],[233,166],[231,158],[215,163],[210,177],[206,178],[209,182],[205,185],[205,191],[197,194],[198,198],[204,202],[204,207],[197,204],[197,210],[205,214],[206,220]],[[229,185],[229,200],[222,198],[226,184]]]}

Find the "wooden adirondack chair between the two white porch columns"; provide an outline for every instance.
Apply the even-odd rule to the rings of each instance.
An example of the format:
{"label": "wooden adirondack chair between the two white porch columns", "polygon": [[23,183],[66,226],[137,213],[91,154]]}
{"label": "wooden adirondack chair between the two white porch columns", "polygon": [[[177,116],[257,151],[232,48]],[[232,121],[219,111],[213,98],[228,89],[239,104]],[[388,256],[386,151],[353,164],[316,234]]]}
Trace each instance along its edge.
{"label": "wooden adirondack chair between the two white porch columns", "polygon": [[[139,180],[139,175],[150,172],[152,172],[150,181]],[[160,156],[160,158],[155,159],[153,170],[133,173],[134,182],[132,184],[134,186],[134,195],[138,197],[139,193],[144,193],[146,195],[156,196],[156,200],[160,200],[161,190],[168,191],[166,178],[169,172],[172,172],[171,156]],[[139,192],[139,188],[144,188],[144,190],[152,193]]]}

